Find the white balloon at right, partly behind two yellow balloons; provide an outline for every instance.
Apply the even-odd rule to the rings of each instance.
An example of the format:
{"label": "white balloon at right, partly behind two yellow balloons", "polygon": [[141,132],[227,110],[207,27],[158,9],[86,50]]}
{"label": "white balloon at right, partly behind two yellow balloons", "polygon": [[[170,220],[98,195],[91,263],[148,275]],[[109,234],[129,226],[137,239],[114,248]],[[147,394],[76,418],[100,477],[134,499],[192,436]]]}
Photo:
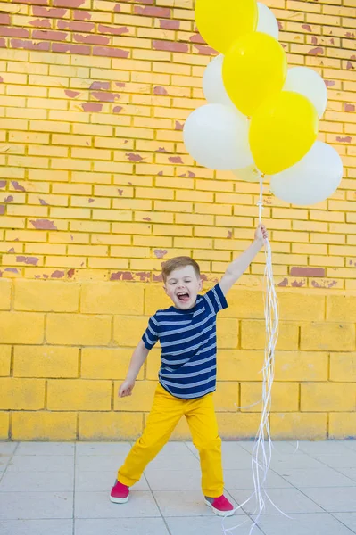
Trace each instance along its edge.
{"label": "white balloon at right, partly behind two yellow balloons", "polygon": [[316,107],[319,117],[324,115],[327,109],[327,86],[315,70],[308,67],[289,69],[284,89],[306,96]]}

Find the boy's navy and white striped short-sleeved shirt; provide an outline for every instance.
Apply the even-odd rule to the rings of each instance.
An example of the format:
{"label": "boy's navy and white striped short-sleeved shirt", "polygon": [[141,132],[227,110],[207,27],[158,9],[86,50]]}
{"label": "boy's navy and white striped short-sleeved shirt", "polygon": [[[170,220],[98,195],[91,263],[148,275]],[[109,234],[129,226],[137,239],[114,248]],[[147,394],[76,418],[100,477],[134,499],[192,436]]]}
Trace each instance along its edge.
{"label": "boy's navy and white striped short-sleeved shirt", "polygon": [[216,316],[228,303],[216,284],[188,310],[158,310],[142,337],[147,350],[161,343],[161,386],[180,399],[202,398],[216,389]]}

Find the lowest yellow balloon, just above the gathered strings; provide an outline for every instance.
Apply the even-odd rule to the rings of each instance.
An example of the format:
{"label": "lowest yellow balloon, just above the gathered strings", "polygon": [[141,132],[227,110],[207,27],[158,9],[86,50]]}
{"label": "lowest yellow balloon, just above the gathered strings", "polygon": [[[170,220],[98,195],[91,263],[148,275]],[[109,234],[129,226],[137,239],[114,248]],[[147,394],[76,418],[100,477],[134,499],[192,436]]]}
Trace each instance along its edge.
{"label": "lowest yellow balloon, just above the gathered strings", "polygon": [[253,115],[250,147],[256,166],[275,175],[302,160],[318,136],[318,112],[305,96],[282,91]]}

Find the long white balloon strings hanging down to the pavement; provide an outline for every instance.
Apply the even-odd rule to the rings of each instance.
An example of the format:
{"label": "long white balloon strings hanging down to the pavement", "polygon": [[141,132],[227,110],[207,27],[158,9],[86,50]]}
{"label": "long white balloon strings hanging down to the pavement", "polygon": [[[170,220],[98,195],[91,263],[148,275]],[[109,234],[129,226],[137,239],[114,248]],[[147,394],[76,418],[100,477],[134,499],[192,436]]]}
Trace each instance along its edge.
{"label": "long white balloon strings hanging down to the pavement", "polygon": [[[259,222],[262,221],[263,210],[263,176],[260,173],[260,197],[257,202],[259,207]],[[271,504],[281,514],[283,513],[269,498],[269,495],[265,489],[267,476],[269,473],[269,466],[271,463],[272,455],[272,440],[270,436],[269,427],[269,413],[272,401],[272,385],[275,376],[275,350],[278,340],[278,325],[279,325],[279,309],[276,293],[276,286],[273,276],[272,265],[272,251],[269,243],[269,239],[264,240],[264,251],[266,266],[264,270],[263,285],[265,288],[263,300],[264,300],[264,315],[266,326],[266,344],[264,352],[264,364],[261,370],[262,373],[262,397],[261,397],[261,423],[256,434],[255,443],[253,446],[252,455],[252,470],[253,470],[253,487],[254,491],[250,498],[244,501],[243,504],[237,506],[235,511],[241,509],[244,505],[255,498],[256,506],[253,513],[248,513],[253,520],[253,525],[249,534],[251,535],[258,525],[261,514],[265,513],[266,505]],[[267,440],[267,445],[266,445]],[[290,518],[288,516],[288,518]],[[244,521],[244,523],[247,521]],[[222,532],[224,535],[231,533],[236,528],[242,526],[244,523],[240,523],[233,528],[225,527],[225,518],[222,520]]]}

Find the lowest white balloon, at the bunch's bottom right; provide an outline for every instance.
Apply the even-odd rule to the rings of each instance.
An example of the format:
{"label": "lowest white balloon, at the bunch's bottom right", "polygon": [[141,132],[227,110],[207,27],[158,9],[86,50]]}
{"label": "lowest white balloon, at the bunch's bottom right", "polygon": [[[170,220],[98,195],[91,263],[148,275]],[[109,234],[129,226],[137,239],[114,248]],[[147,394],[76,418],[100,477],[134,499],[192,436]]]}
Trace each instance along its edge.
{"label": "lowest white balloon, at the bunch's bottom right", "polygon": [[279,199],[308,206],[330,197],[343,177],[343,162],[333,147],[315,142],[302,161],[270,180],[270,191]]}

